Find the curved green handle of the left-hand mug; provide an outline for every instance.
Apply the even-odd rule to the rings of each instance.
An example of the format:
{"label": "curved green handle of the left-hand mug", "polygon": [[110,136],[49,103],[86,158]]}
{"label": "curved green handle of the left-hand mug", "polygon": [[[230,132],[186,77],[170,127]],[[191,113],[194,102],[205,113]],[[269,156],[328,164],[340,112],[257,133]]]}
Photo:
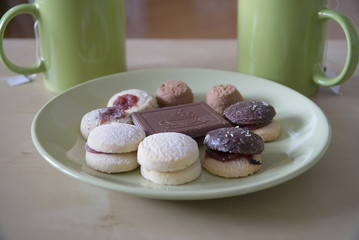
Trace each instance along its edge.
{"label": "curved green handle of the left-hand mug", "polygon": [[32,74],[32,73],[42,72],[44,70],[45,65],[44,65],[44,61],[41,58],[38,58],[35,64],[31,66],[21,67],[13,64],[5,55],[3,39],[4,39],[6,26],[16,15],[19,15],[21,13],[28,13],[32,15],[35,19],[38,19],[39,17],[38,9],[36,8],[35,4],[31,4],[31,3],[19,4],[11,8],[3,15],[3,17],[0,20],[0,60],[6,67],[8,67],[10,70],[16,73]]}

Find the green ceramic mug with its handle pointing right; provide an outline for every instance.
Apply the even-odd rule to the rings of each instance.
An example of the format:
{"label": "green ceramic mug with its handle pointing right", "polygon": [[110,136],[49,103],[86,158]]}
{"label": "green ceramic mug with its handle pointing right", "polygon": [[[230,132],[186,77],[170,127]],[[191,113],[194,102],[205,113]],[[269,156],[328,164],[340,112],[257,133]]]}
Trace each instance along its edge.
{"label": "green ceramic mug with its handle pointing right", "polygon": [[[351,20],[328,9],[328,0],[238,0],[238,71],[313,96],[318,86],[348,80],[358,66],[358,33]],[[337,77],[323,72],[326,21],[336,21],[347,41]]]}

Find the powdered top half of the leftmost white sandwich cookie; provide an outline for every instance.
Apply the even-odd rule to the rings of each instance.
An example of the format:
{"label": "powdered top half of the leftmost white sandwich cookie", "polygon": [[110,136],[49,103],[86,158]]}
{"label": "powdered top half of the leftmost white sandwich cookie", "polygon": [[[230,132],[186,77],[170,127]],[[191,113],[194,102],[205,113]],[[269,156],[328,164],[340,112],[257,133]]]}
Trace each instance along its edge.
{"label": "powdered top half of the leftmost white sandwich cookie", "polygon": [[87,139],[90,148],[103,153],[136,151],[146,137],[145,132],[134,125],[111,123],[94,128]]}

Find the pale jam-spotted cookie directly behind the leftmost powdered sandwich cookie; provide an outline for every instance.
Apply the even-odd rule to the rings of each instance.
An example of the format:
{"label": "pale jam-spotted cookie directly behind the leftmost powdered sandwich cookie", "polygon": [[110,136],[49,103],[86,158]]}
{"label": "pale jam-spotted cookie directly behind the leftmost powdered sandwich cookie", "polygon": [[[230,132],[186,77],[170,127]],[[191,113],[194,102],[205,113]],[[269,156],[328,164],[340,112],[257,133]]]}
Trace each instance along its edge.
{"label": "pale jam-spotted cookie directly behind the leftmost powdered sandwich cookie", "polygon": [[114,122],[131,123],[130,114],[118,107],[106,107],[93,110],[86,113],[81,119],[81,135],[84,139],[87,139],[95,127]]}

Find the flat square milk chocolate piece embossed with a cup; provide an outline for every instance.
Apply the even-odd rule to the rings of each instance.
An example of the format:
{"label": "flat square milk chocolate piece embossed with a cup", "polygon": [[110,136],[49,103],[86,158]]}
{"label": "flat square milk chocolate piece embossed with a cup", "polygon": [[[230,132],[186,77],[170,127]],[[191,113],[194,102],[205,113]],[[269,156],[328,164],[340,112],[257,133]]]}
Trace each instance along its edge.
{"label": "flat square milk chocolate piece embossed with a cup", "polygon": [[147,135],[179,132],[198,138],[213,129],[231,126],[205,102],[140,111],[132,113],[131,117],[133,123]]}

